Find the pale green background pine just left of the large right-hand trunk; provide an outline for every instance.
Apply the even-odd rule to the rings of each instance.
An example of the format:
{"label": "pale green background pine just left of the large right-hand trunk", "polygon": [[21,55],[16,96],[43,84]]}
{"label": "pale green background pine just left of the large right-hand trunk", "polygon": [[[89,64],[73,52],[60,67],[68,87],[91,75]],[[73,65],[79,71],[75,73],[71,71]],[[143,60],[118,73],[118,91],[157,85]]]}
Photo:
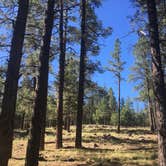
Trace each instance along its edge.
{"label": "pale green background pine just left of the large right-hand trunk", "polygon": [[130,80],[137,82],[135,89],[140,91],[139,99],[148,103],[150,129],[154,132],[156,128],[155,111],[153,109],[154,95],[152,93],[152,69],[149,42],[141,37],[134,47],[135,64],[131,68]]}

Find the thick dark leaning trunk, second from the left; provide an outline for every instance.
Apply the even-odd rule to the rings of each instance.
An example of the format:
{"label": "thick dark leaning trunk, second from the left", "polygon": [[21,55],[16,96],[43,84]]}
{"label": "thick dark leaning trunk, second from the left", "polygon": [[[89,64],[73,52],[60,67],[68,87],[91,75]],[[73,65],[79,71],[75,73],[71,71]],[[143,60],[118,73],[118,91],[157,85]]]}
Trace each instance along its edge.
{"label": "thick dark leaning trunk, second from the left", "polygon": [[[40,138],[43,137],[43,133],[45,133],[49,52],[52,29],[54,24],[54,4],[55,0],[48,0],[47,11],[45,13],[45,32],[43,36],[43,46],[41,47],[40,51],[38,87],[35,97],[34,114],[32,117],[30,139],[28,140],[26,152],[26,166],[38,165],[39,147],[41,145]],[[44,146],[44,140],[42,146]]]}

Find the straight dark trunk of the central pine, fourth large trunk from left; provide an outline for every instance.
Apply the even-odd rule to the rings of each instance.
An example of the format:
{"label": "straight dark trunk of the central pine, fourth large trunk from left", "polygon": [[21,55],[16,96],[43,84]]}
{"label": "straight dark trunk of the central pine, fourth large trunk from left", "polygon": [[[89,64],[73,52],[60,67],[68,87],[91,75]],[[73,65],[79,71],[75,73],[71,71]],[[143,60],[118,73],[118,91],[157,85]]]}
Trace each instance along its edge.
{"label": "straight dark trunk of the central pine, fourth large trunk from left", "polygon": [[84,81],[85,81],[85,57],[86,57],[86,0],[82,0],[81,6],[81,53],[79,71],[79,89],[77,101],[76,140],[75,147],[82,147],[82,118],[84,103]]}

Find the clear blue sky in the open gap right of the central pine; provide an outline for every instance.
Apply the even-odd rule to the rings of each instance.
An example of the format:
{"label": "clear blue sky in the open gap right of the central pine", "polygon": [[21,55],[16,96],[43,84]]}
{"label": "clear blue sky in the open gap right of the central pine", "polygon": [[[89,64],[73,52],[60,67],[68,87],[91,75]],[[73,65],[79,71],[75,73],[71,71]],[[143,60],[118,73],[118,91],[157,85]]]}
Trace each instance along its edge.
{"label": "clear blue sky in the open gap right of the central pine", "polygon": [[[134,63],[134,57],[132,55],[132,46],[137,41],[137,34],[131,33],[124,37],[131,31],[131,25],[127,16],[134,14],[130,0],[104,0],[103,5],[96,10],[96,13],[100,20],[102,20],[104,26],[111,26],[113,28],[113,34],[104,40],[104,46],[101,48],[98,60],[100,60],[102,66],[108,66],[108,60],[111,58],[110,53],[114,49],[114,42],[116,38],[120,38],[122,45],[122,58],[126,61],[125,70],[122,73],[123,77],[128,80],[128,75],[131,73],[130,68]],[[115,95],[117,94],[117,84],[113,74],[105,72],[102,74],[96,73],[93,79],[101,86],[106,88],[112,87]],[[123,81],[121,85],[121,96],[125,99],[127,97],[135,98],[138,96],[133,88],[134,83]],[[116,95],[117,96],[117,95]],[[143,108],[143,103],[134,102],[135,108]]]}

